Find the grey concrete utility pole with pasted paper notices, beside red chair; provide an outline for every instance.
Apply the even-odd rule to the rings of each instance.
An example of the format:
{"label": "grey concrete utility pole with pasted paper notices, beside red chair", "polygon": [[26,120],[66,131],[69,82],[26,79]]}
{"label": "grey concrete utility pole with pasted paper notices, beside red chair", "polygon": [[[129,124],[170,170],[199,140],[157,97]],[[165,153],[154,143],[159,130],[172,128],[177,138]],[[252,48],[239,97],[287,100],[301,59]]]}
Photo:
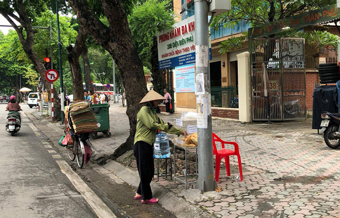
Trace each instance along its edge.
{"label": "grey concrete utility pole with pasted paper notices, beside red chair", "polygon": [[[211,95],[209,69],[208,2],[195,0],[196,101],[198,133],[198,178],[196,188],[201,192],[213,191],[214,157],[212,146]],[[201,86],[199,86],[200,84]],[[201,90],[198,88],[201,87]],[[202,113],[199,110],[202,108]]]}

